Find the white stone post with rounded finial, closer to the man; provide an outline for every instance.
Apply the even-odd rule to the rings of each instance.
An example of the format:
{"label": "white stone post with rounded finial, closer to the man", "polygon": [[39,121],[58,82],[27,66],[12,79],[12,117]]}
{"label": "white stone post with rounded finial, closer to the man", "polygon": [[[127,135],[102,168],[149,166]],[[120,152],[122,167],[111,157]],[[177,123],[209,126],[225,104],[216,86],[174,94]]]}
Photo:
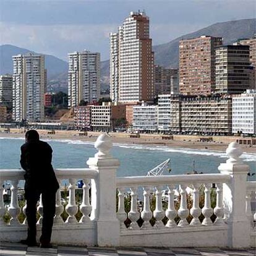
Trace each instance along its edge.
{"label": "white stone post with rounded finial, closer to the man", "polygon": [[98,171],[92,180],[91,220],[96,225],[98,246],[119,246],[120,223],[116,217],[116,170],[119,161],[109,152],[113,144],[108,134],[101,134],[95,142],[98,153],[87,164]]}

